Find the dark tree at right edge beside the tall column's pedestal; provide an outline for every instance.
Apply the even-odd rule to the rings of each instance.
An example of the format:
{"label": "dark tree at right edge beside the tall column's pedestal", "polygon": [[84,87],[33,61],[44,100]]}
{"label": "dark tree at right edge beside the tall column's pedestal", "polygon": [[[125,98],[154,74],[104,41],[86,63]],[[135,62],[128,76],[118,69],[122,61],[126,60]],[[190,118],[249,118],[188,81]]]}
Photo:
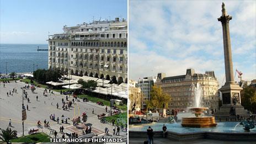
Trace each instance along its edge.
{"label": "dark tree at right edge beside the tall column's pedestal", "polygon": [[241,92],[241,104],[247,110],[256,113],[256,88],[246,86]]}

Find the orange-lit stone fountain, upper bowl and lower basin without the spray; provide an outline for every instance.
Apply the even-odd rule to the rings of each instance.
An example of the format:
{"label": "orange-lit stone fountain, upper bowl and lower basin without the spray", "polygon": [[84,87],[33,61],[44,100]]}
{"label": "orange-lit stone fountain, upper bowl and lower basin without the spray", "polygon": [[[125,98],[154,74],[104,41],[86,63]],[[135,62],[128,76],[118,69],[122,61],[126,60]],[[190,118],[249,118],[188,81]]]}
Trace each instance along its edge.
{"label": "orange-lit stone fountain, upper bowl and lower basin without the spray", "polygon": [[217,125],[214,116],[201,116],[209,108],[198,107],[189,109],[194,111],[195,117],[182,118],[183,127],[215,127]]}

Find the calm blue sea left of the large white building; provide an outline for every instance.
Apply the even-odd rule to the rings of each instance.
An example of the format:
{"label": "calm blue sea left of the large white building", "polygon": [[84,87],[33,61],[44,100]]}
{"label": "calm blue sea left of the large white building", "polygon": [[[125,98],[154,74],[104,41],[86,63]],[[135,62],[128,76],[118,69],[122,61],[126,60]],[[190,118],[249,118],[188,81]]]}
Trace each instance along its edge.
{"label": "calm blue sea left of the large white building", "polygon": [[33,72],[33,64],[38,68],[47,69],[48,51],[36,51],[48,49],[47,44],[0,44],[0,72]]}

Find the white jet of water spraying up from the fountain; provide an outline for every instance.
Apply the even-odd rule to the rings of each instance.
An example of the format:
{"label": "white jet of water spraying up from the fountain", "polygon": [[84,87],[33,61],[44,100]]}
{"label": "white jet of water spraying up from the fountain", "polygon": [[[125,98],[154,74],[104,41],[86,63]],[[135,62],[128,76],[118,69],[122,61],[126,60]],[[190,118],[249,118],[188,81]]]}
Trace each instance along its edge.
{"label": "white jet of water spraying up from the fountain", "polygon": [[199,83],[191,84],[190,90],[194,92],[194,107],[199,108],[201,106],[201,93],[202,93],[202,88],[200,87]]}

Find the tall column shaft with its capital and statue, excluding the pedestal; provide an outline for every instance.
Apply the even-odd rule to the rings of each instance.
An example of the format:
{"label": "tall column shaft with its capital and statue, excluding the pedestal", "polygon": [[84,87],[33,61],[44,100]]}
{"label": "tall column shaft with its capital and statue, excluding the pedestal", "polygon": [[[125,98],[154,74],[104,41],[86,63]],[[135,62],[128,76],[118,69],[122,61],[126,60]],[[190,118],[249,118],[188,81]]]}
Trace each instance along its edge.
{"label": "tall column shaft with its capital and statue, excluding the pedestal", "polygon": [[231,40],[230,40],[230,26],[229,26],[229,22],[231,19],[232,17],[230,15],[227,15],[226,13],[225,4],[222,3],[222,15],[220,18],[218,18],[218,21],[220,21],[222,24],[226,83],[234,83]]}

